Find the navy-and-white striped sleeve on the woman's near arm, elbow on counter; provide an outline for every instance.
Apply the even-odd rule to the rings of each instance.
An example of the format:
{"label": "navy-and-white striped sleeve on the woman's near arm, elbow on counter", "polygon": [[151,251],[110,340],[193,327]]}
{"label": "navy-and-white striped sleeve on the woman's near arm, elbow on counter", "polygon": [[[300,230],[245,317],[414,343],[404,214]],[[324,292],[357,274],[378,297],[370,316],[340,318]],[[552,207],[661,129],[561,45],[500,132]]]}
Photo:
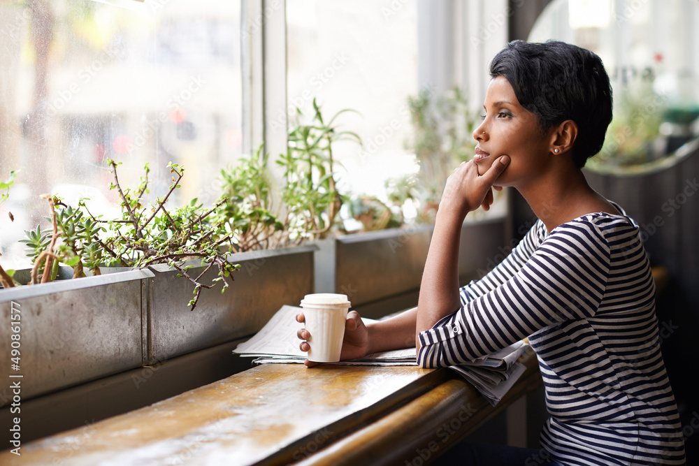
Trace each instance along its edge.
{"label": "navy-and-white striped sleeve on the woman's near arm, elbow on counter", "polygon": [[610,247],[591,222],[552,231],[510,279],[421,332],[417,363],[473,361],[552,323],[593,316],[605,293]]}

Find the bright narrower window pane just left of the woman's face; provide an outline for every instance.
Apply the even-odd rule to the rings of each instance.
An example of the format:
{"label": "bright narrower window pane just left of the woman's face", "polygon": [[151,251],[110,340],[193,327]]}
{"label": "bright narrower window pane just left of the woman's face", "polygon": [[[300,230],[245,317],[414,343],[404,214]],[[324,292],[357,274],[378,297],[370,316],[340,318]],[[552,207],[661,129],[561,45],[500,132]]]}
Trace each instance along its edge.
{"label": "bright narrower window pane just left of the woman's face", "polygon": [[[363,140],[340,141],[333,156],[341,185],[385,200],[384,181],[415,173],[408,96],[417,94],[417,6],[413,0],[287,0],[287,105],[305,122],[312,100],[342,130]],[[289,122],[291,126],[292,122]]]}

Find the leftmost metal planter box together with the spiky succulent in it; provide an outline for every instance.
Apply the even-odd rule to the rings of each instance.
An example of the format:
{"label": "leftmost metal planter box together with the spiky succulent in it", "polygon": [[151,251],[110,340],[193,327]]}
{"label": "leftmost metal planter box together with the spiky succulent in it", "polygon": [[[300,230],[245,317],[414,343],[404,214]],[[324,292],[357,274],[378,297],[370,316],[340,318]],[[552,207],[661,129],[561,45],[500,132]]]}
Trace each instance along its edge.
{"label": "leftmost metal planter box together with the spiky succulent in it", "polygon": [[[14,173],[0,189],[7,191],[13,180]],[[7,196],[6,192],[0,201]],[[143,290],[152,272],[128,270],[68,279],[80,269],[73,272],[59,266],[59,261],[75,259],[78,238],[94,225],[75,210],[56,210],[54,198],[48,205],[52,230],[37,228],[27,238],[36,258],[34,268],[15,272],[0,266],[0,309],[3,319],[16,323],[0,330],[3,341],[15,342],[1,350],[0,370],[22,375],[23,399],[139,367],[145,361]],[[57,242],[59,234],[65,241]],[[94,250],[88,246],[85,254],[92,257]],[[56,277],[66,279],[50,281]],[[38,285],[40,281],[44,283]],[[34,286],[19,286],[32,282]],[[9,402],[0,398],[0,407]]]}

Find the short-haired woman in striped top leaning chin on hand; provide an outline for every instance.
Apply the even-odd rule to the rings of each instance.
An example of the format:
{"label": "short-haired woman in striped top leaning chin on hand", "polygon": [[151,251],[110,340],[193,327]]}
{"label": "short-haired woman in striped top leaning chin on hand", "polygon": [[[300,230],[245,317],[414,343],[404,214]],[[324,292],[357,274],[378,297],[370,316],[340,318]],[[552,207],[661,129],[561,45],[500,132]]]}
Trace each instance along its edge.
{"label": "short-haired woman in striped top leaning chin on hand", "polygon": [[[415,337],[420,365],[447,367],[528,336],[551,415],[541,435],[549,464],[684,464],[638,226],[581,170],[612,119],[602,61],[575,45],[514,41],[490,71],[475,156],[447,180],[417,308],[369,326],[350,312],[343,359]],[[487,210],[492,189],[503,186],[516,188],[539,220],[505,261],[459,289],[463,219]],[[498,464],[541,464],[531,454],[499,447]],[[496,464],[493,451],[475,446],[448,455]]]}

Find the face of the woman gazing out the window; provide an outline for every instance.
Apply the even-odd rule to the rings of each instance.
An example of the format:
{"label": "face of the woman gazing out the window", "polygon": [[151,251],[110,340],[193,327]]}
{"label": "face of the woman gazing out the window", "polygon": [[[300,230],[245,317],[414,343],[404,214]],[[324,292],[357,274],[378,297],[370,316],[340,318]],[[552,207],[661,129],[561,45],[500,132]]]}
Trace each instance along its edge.
{"label": "face of the woman gazing out the window", "polygon": [[509,155],[510,165],[496,184],[517,187],[533,181],[547,169],[551,154],[550,138],[539,129],[536,115],[519,105],[504,76],[491,80],[483,107],[483,122],[473,131],[478,173],[485,173],[498,156]]}

